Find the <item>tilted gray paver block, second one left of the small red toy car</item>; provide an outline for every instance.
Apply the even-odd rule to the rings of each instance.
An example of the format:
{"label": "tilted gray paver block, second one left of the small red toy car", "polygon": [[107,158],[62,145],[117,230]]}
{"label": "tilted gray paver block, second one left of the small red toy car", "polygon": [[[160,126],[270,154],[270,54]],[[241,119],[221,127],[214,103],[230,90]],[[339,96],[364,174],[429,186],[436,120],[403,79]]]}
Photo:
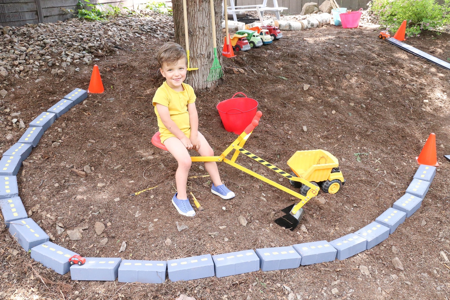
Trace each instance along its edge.
{"label": "tilted gray paver block, second one left of the small red toy car", "polygon": [[31,218],[14,221],[9,226],[9,233],[18,239],[25,251],[49,241],[47,233]]}

